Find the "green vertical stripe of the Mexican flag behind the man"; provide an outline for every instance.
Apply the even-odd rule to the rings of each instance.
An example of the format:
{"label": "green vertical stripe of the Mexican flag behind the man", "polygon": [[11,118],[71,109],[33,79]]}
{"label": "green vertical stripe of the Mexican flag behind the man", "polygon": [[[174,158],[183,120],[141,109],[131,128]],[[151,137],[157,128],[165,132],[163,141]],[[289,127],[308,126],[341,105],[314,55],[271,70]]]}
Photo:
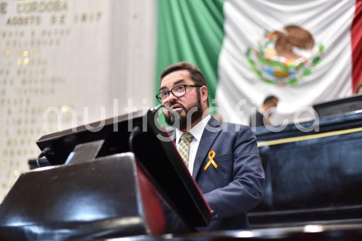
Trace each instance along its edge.
{"label": "green vertical stripe of the Mexican flag behind the man", "polygon": [[185,60],[200,67],[209,97],[215,97],[224,38],[223,4],[224,0],[158,0],[155,94],[162,70]]}

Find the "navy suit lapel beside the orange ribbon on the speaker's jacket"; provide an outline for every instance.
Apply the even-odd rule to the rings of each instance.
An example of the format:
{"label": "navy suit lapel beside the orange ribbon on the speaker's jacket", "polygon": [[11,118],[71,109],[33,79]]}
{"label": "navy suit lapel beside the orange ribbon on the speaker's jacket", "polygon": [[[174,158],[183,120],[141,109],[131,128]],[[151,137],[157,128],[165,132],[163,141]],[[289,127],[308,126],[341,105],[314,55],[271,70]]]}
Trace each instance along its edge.
{"label": "navy suit lapel beside the orange ribbon on the speaker's jacket", "polygon": [[193,163],[192,177],[195,179],[199,173],[202,163],[208,157],[208,152],[210,151],[211,145],[215,142],[216,137],[222,130],[220,128],[220,124],[220,122],[211,116],[207,123],[208,127],[204,129],[199,147],[197,148],[195,162]]}

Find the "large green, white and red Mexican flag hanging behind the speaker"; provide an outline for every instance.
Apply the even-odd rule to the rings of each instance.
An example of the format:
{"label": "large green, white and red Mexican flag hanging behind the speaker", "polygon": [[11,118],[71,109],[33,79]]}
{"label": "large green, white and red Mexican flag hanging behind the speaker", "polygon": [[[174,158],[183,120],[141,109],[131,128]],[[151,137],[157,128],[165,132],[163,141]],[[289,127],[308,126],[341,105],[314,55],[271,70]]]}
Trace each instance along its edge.
{"label": "large green, white and red Mexican flag hanging behind the speaker", "polygon": [[309,118],[362,81],[362,0],[158,0],[157,10],[156,92],[166,66],[195,63],[224,121],[248,124],[270,95],[276,124]]}

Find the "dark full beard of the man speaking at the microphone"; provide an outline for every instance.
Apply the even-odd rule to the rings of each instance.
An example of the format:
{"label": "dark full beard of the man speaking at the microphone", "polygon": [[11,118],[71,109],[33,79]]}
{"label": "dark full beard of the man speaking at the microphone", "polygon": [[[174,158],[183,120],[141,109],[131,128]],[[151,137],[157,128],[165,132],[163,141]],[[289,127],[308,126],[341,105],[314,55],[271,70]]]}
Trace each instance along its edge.
{"label": "dark full beard of the man speaking at the microphone", "polygon": [[[167,109],[167,111],[164,113],[165,115],[165,121],[168,125],[173,126],[177,129],[186,129],[188,127],[188,124],[191,126],[192,123],[197,121],[198,119],[201,119],[203,110],[201,106],[201,94],[200,91],[197,92],[197,102],[191,106],[189,109],[187,109],[184,105],[181,103],[178,103],[177,101],[170,103],[170,106],[178,104],[181,106],[181,111],[177,111],[177,114],[174,113],[176,111],[170,110],[170,108]],[[189,120],[189,123],[187,121],[188,113],[191,111],[191,121]],[[183,114],[184,112],[184,114]],[[190,117],[189,117],[190,118]],[[174,126],[175,125],[175,126]]]}

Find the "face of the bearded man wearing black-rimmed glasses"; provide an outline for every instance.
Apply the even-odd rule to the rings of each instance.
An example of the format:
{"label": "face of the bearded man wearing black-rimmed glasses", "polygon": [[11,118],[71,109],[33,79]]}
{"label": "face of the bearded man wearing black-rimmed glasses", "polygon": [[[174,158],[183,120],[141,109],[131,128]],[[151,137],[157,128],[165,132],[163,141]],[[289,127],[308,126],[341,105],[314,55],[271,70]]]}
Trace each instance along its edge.
{"label": "face of the bearded man wearing black-rimmed glasses", "polygon": [[[173,87],[182,85],[182,84],[191,84],[194,85],[194,81],[190,79],[190,73],[188,70],[177,70],[168,75],[166,75],[161,80],[160,92],[170,91]],[[201,106],[201,97],[200,92],[196,87],[186,87],[186,94],[181,97],[173,96],[172,93],[169,94],[169,100],[163,105],[167,108],[163,108],[163,113],[165,115],[165,120],[167,124],[172,126],[175,122],[175,115],[171,113],[177,112],[180,117],[179,126],[176,125],[178,129],[186,129],[187,127],[187,113],[193,107],[197,108],[196,112],[193,112],[190,123],[202,117],[202,106]]]}

